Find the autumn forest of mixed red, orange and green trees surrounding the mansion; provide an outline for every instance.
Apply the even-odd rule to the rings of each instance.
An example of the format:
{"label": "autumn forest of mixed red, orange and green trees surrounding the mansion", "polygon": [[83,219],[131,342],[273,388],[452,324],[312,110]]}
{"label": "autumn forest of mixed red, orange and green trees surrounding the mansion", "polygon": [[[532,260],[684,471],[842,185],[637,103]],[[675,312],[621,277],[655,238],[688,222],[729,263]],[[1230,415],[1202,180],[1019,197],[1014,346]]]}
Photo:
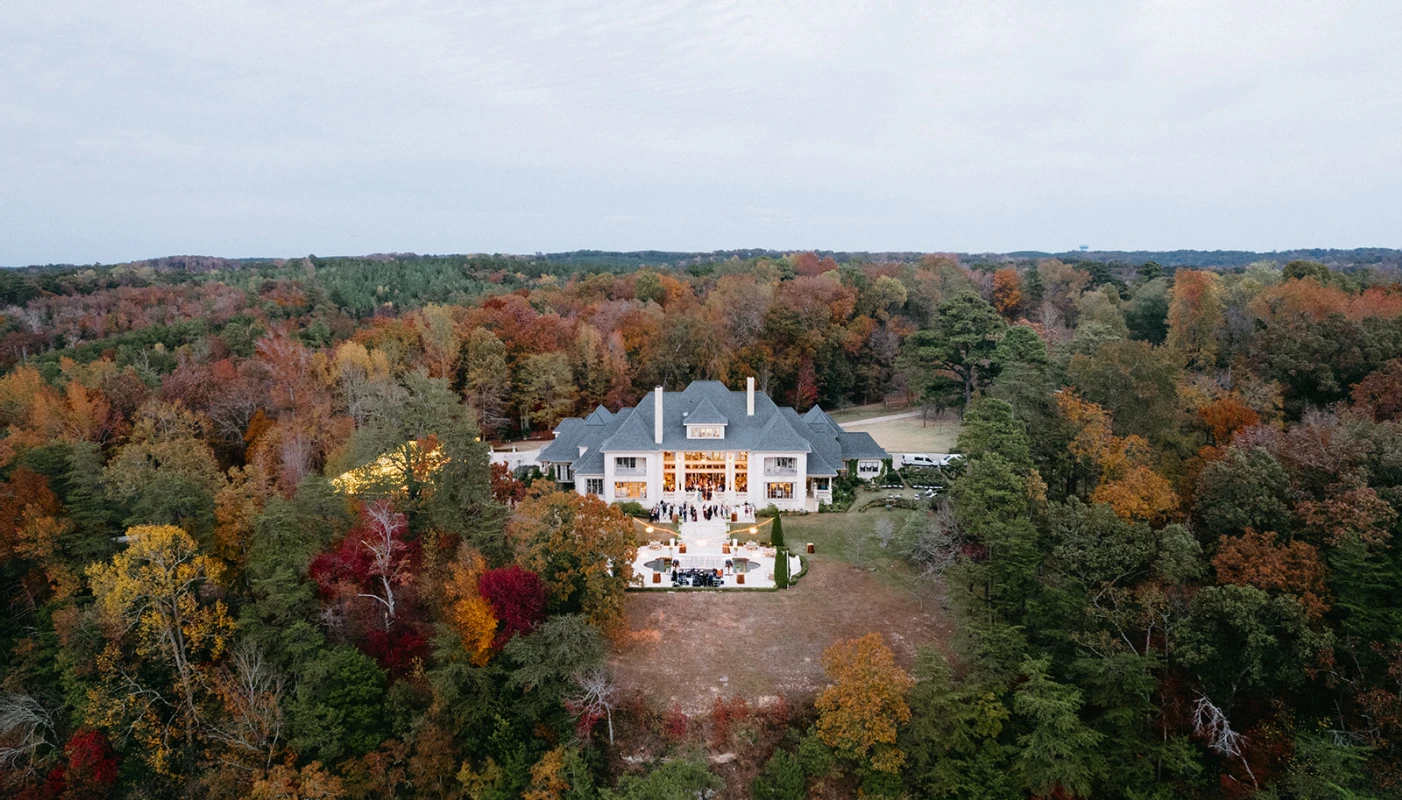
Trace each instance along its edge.
{"label": "autumn forest of mixed red, orange and green trees surrounding the mansion", "polygon": [[[1402,796],[1392,251],[35,266],[0,370],[4,796]],[[637,510],[491,450],[747,377],[958,425],[765,534],[882,514],[951,633],[698,712],[614,673]]]}

